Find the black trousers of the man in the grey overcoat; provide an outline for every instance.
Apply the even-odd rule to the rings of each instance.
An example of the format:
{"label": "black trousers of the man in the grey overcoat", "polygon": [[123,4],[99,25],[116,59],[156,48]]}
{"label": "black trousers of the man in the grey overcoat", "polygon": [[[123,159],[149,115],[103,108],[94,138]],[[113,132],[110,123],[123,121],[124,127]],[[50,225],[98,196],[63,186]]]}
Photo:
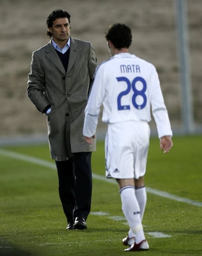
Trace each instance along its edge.
{"label": "black trousers of the man in the grey overcoat", "polygon": [[74,153],[66,161],[56,161],[59,181],[59,197],[67,218],[87,219],[91,207],[92,174],[91,152]]}

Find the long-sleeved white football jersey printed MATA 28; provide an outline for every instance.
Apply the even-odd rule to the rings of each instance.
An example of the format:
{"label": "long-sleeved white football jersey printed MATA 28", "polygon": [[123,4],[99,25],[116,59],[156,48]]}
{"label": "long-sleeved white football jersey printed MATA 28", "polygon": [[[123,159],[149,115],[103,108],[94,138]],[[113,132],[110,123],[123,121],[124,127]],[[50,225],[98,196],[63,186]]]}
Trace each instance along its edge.
{"label": "long-sleeved white football jersey printed MATA 28", "polygon": [[84,136],[95,134],[102,104],[105,123],[149,122],[152,111],[159,138],[172,135],[157,70],[133,54],[116,54],[97,68],[85,108]]}

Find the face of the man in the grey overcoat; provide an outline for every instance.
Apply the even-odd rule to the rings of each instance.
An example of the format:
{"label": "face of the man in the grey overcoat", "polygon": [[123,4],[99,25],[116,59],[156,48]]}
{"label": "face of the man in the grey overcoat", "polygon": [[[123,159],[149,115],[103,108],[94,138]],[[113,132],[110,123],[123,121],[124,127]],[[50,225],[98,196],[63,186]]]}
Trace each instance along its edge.
{"label": "face of the man in the grey overcoat", "polygon": [[48,29],[56,43],[65,42],[70,37],[70,23],[67,17],[54,20],[52,27]]}

